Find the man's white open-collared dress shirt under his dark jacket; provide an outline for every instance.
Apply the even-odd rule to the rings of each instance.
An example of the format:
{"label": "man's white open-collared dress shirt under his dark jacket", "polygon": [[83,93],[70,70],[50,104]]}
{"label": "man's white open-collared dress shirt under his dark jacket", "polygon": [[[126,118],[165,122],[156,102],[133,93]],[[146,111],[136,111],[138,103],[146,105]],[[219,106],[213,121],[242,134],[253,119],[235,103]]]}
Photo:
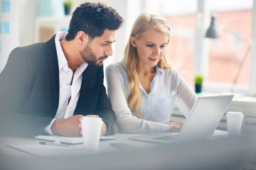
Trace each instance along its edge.
{"label": "man's white open-collared dress shirt under his dark jacket", "polygon": [[[58,111],[55,115],[56,118],[69,118],[74,115],[75,108],[78,103],[78,98],[80,96],[80,88],[82,84],[82,72],[85,71],[87,63],[83,64],[75,70],[74,76],[73,71],[68,67],[68,62],[65,58],[64,52],[60,45],[60,40],[63,40],[68,33],[58,32],[55,36],[55,45],[58,55],[58,67],[59,67],[59,77],[60,77],[60,96]],[[71,84],[73,77],[73,83]],[[70,99],[70,101],[69,101]],[[69,102],[68,102],[69,101]],[[50,135],[53,133],[50,130],[51,125],[53,124],[53,119],[45,128],[45,131]]]}

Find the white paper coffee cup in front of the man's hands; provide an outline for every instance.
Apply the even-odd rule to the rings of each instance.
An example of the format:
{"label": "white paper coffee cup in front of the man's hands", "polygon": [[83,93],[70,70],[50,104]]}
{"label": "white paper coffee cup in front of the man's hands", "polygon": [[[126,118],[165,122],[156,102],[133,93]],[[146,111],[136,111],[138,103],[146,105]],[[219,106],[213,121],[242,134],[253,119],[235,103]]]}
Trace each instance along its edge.
{"label": "white paper coffee cup in front of the man's hands", "polygon": [[82,118],[82,142],[83,148],[88,151],[97,151],[102,129],[102,118]]}

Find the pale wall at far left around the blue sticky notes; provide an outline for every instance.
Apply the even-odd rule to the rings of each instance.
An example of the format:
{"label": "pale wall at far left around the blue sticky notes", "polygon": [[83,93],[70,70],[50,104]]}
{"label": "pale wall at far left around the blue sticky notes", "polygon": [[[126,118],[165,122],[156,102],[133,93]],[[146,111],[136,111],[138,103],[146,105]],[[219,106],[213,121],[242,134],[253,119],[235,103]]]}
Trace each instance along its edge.
{"label": "pale wall at far left around the blue sticky notes", "polygon": [[14,47],[30,45],[34,39],[36,0],[10,0],[10,13],[1,13],[1,21],[10,21],[10,34],[0,35],[0,72]]}

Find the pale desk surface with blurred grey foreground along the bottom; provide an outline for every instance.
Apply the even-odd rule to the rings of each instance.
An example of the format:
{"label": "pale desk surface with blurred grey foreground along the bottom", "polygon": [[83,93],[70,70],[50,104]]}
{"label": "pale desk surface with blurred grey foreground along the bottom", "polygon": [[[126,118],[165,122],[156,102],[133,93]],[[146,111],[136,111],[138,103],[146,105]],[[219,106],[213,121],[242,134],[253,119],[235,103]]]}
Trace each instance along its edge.
{"label": "pale desk surface with blurred grey foreground along the bottom", "polygon": [[[247,158],[255,156],[255,137],[221,138],[190,142],[181,145],[158,145],[153,142],[127,140],[134,134],[117,133],[116,140],[101,141],[99,152],[88,153],[82,145],[69,147],[68,152],[59,147],[51,150],[53,157],[34,157],[6,145],[35,145],[41,140],[19,137],[0,137],[0,169],[218,169],[228,166],[240,168]],[[137,147],[132,152],[122,152],[110,146],[121,142]],[[49,146],[48,146],[49,147]],[[47,150],[45,151],[47,152]],[[58,156],[58,157],[56,157]],[[250,156],[250,157],[249,157]],[[253,157],[251,159],[251,157]],[[54,159],[52,159],[54,158]],[[42,166],[43,165],[43,166]]]}

